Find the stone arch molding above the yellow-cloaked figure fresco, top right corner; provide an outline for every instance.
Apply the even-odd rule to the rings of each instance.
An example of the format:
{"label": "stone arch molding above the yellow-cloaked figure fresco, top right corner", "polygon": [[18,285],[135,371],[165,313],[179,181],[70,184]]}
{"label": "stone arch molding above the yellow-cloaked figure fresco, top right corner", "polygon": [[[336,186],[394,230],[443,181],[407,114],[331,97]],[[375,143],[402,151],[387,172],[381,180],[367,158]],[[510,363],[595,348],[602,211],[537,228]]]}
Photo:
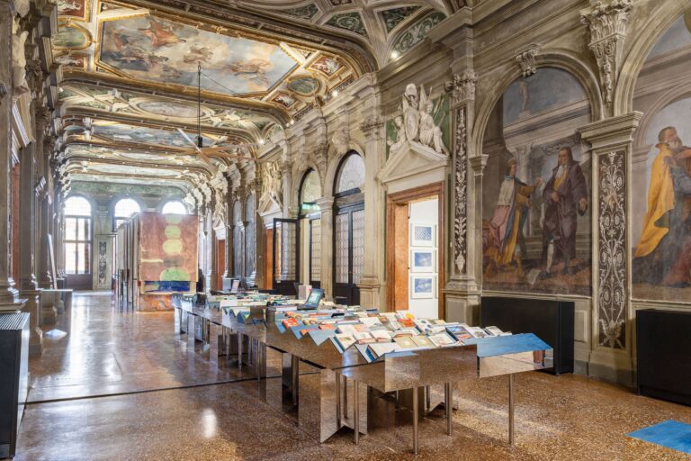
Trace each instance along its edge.
{"label": "stone arch molding above the yellow-cloaked figure fresco, top right corner", "polygon": [[[676,2],[659,2],[650,0],[651,11],[645,13],[642,23],[637,24],[635,37],[631,48],[624,56],[624,63],[619,71],[619,79],[615,86],[614,104],[615,115],[633,111],[633,97],[638,76],[645,65],[651,50],[660,38],[668,31],[669,26],[678,20],[679,16],[691,9],[691,0]],[[642,5],[633,8],[633,15],[643,11]]]}

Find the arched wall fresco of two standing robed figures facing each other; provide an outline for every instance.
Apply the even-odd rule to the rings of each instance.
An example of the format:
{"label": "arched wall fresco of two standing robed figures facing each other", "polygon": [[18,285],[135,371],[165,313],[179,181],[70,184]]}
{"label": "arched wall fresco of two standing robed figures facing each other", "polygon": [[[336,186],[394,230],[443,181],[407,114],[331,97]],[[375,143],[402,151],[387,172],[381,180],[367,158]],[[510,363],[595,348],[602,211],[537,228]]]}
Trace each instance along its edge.
{"label": "arched wall fresco of two standing robed figures facing each other", "polygon": [[483,144],[483,289],[591,294],[588,122],[583,87],[557,68],[499,100]]}

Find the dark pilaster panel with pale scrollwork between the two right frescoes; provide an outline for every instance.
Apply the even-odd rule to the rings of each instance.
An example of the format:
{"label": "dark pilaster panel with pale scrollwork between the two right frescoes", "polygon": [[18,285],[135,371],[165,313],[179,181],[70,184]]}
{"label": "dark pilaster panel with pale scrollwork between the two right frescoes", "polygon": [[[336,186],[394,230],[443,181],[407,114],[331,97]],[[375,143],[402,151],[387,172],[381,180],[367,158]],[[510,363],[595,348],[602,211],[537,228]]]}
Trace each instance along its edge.
{"label": "dark pilaster panel with pale scrollwork between the two right frescoes", "polygon": [[626,176],[624,151],[599,155],[597,343],[626,346]]}

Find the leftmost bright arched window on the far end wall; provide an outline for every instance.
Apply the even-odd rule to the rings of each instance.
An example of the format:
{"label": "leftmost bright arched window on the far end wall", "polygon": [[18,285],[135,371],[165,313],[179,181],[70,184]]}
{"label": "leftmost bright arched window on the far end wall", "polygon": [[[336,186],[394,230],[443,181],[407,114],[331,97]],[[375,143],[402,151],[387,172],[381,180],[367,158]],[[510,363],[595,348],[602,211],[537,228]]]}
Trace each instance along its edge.
{"label": "leftmost bright arched window on the far end wall", "polygon": [[65,201],[65,270],[67,274],[91,273],[91,203],[73,196]]}

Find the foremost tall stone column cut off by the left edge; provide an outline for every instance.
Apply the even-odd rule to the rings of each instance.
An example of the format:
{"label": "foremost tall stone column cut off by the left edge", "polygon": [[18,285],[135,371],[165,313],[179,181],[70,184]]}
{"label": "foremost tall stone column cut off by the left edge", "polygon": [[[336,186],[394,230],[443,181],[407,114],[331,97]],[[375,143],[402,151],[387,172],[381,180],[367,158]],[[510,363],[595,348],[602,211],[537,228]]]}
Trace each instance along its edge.
{"label": "foremost tall stone column cut off by the left edge", "polygon": [[25,303],[19,299],[10,273],[13,16],[11,2],[0,0],[0,311],[18,311]]}

